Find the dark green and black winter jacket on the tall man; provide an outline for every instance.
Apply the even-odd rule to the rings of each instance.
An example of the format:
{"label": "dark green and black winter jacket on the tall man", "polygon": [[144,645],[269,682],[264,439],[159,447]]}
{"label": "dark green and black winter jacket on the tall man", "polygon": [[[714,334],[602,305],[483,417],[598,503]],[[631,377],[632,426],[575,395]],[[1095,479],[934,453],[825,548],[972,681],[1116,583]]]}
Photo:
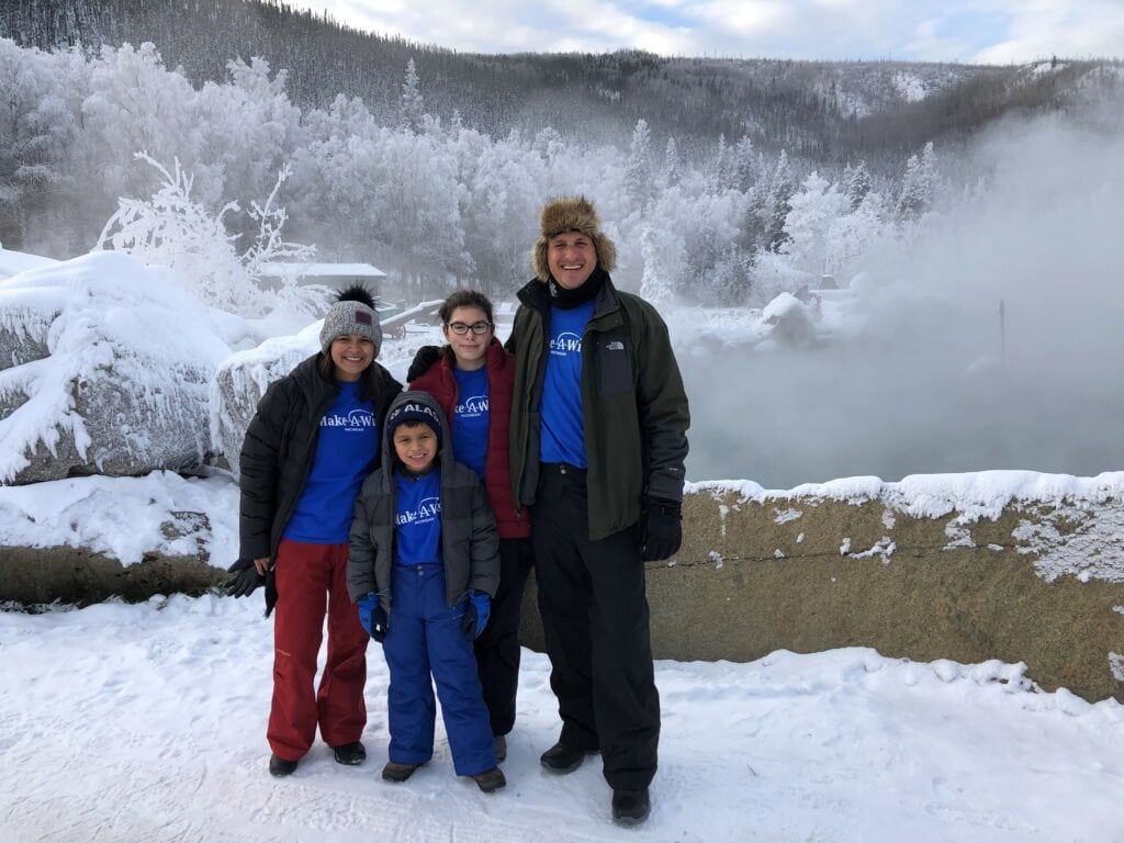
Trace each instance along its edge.
{"label": "dark green and black winter jacket on the tall man", "polygon": [[[537,279],[518,297],[508,339],[516,357],[511,484],[516,500],[529,506],[538,484],[551,300]],[[582,335],[581,400],[590,540],[636,524],[644,497],[682,500],[690,413],[668,326],[649,302],[616,290],[607,274]]]}

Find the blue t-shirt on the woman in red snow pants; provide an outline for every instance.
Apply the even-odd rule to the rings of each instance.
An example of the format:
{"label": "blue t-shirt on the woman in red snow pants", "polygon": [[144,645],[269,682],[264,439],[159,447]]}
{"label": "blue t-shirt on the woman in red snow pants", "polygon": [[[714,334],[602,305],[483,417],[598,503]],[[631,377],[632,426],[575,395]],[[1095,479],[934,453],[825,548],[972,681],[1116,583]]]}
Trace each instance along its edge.
{"label": "blue t-shirt on the woman in red snow pants", "polygon": [[355,497],[374,468],[379,447],[374,405],[359,399],[357,382],[337,383],[339,395],[320,419],[312,470],[285,525],[284,537],[293,542],[346,542]]}

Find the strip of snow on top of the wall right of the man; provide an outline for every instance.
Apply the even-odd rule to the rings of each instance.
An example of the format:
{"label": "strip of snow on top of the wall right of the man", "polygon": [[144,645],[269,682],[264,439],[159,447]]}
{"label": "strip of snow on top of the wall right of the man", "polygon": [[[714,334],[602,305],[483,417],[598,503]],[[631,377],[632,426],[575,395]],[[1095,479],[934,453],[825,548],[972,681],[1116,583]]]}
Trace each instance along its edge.
{"label": "strip of snow on top of the wall right of the man", "polygon": [[736,492],[742,501],[765,504],[801,498],[851,504],[881,500],[915,518],[940,518],[953,511],[968,522],[997,519],[1012,505],[1064,501],[1105,504],[1124,499],[1124,471],[1093,478],[1036,471],[992,470],[959,474],[909,474],[897,482],[853,477],[825,483],[804,483],[789,490],[765,489],[752,480],[704,480],[685,483],[685,491],[717,498]]}

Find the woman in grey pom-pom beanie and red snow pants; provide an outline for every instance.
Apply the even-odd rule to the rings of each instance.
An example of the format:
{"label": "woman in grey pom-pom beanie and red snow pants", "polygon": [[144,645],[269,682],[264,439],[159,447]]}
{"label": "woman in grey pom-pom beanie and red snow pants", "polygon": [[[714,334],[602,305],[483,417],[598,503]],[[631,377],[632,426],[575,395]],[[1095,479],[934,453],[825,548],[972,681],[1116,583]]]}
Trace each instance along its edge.
{"label": "woman in grey pom-pom beanie and red snow pants", "polygon": [[[352,287],[328,310],[320,352],[273,383],[242,446],[239,560],[230,592],[265,578],[273,623],[270,772],[288,776],[320,736],[341,764],[366,758],[363,687],[370,637],[347,596],[355,497],[380,462],[379,428],[402,387],[374,362],[374,300]],[[328,653],[318,689],[324,617]]]}

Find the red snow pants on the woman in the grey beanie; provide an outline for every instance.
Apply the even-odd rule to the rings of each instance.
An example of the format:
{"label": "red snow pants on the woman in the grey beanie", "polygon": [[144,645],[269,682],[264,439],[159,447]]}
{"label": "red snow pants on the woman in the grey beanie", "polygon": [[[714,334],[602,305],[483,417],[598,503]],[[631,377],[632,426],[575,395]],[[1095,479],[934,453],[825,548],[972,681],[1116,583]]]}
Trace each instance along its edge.
{"label": "red snow pants on the woman in the grey beanie", "polygon": [[[366,644],[370,637],[347,596],[347,545],[282,538],[274,560],[273,704],[270,749],[297,761],[316,740],[329,746],[359,741],[366,725]],[[328,615],[328,656],[316,681],[316,659]]]}

